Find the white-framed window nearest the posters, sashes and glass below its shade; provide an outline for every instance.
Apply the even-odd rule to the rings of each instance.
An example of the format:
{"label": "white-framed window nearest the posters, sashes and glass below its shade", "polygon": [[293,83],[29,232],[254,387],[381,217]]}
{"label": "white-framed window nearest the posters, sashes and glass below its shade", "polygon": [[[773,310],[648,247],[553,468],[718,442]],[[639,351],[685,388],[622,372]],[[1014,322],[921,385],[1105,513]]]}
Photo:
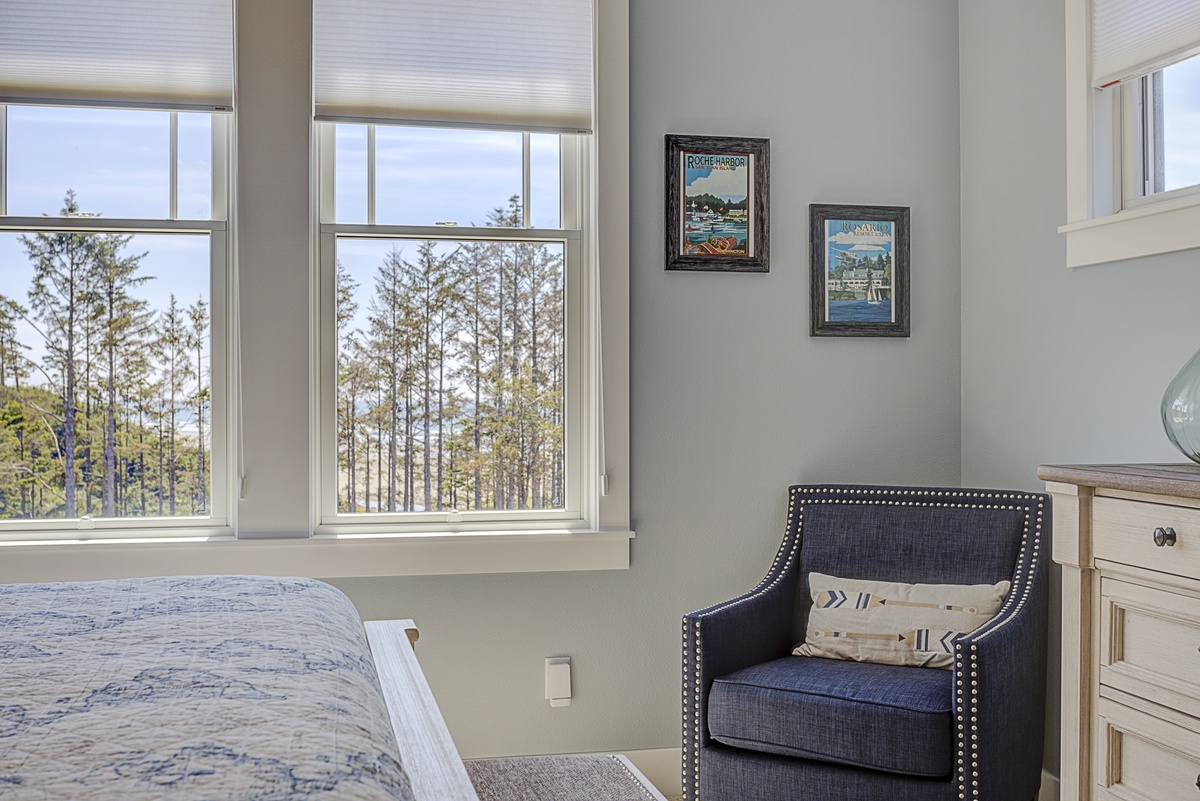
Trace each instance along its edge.
{"label": "white-framed window nearest the posters, sashes and glass below its shade", "polygon": [[[433,135],[443,133],[322,126],[323,218],[337,221],[322,225],[323,530],[562,528],[584,517],[583,247],[580,230],[558,227],[581,217],[563,205],[577,194],[580,141]],[[414,153],[397,153],[402,143]],[[370,195],[388,182],[383,149],[412,164],[407,186],[449,183],[440,207],[473,217],[433,219],[416,204],[400,212],[410,224],[348,222],[343,200],[350,219],[374,206],[350,187]],[[511,167],[472,171],[497,155]]]}

